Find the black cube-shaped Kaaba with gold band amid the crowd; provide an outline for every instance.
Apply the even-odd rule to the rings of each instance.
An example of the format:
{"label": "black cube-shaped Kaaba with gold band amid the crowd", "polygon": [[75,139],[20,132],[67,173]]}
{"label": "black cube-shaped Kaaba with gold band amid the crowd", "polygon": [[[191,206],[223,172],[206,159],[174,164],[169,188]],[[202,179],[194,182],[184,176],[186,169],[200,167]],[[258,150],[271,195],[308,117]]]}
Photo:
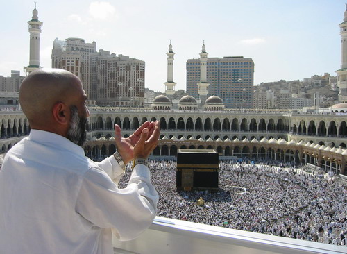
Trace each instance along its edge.
{"label": "black cube-shaped Kaaba with gold band amid the crowd", "polygon": [[178,149],[178,190],[218,191],[219,155],[214,149]]}

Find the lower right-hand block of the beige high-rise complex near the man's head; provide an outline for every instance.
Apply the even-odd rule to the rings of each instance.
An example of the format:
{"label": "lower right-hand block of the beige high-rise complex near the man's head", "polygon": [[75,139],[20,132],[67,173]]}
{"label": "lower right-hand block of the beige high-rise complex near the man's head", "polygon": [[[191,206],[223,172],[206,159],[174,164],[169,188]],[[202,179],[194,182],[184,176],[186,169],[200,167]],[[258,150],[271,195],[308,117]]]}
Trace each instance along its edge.
{"label": "lower right-hand block of the beige high-rise complex near the man's head", "polygon": [[90,67],[90,97],[98,105],[144,106],[144,61],[100,50]]}

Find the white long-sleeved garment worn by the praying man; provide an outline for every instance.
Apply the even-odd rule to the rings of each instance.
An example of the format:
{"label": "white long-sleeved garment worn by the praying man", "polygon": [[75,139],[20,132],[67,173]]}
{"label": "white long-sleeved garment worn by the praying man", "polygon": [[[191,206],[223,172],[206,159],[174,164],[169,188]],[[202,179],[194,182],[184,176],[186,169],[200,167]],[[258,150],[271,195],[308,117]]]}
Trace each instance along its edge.
{"label": "white long-sleeved garment worn by the praying man", "polygon": [[65,137],[31,130],[0,170],[0,253],[113,253],[111,230],[137,237],[158,203],[146,166],[118,189],[122,174],[113,156],[96,163]]}

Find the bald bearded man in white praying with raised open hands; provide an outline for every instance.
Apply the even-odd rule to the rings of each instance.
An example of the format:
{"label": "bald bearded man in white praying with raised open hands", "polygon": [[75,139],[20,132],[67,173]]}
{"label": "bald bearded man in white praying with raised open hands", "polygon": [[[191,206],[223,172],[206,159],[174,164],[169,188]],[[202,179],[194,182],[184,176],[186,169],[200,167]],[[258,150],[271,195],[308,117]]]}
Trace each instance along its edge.
{"label": "bald bearded man in white praying with raised open hands", "polygon": [[[111,254],[112,233],[137,237],[156,214],[147,157],[160,135],[146,122],[128,138],[115,126],[117,152],[85,157],[87,96],[69,71],[40,69],[23,81],[19,101],[31,126],[0,170],[0,252]],[[134,159],[128,186],[117,183]]]}

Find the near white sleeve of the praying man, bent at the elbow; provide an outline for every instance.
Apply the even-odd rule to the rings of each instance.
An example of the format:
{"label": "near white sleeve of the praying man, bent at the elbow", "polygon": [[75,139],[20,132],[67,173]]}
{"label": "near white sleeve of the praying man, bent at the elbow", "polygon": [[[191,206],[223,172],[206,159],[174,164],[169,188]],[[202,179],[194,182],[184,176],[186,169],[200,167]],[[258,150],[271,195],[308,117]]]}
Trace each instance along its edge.
{"label": "near white sleeve of the praying man, bent at the elbow", "polygon": [[91,226],[112,228],[118,239],[130,240],[151,225],[157,203],[158,193],[146,166],[136,165],[124,189],[118,189],[105,171],[94,167],[85,173],[76,212]]}

